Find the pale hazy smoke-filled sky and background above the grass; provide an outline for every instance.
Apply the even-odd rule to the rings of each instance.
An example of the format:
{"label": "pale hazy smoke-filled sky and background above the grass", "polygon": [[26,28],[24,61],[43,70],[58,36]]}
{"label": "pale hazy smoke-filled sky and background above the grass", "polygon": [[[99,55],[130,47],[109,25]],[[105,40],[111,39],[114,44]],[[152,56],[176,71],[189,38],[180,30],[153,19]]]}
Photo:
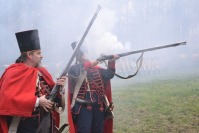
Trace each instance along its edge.
{"label": "pale hazy smoke-filled sky and background above the grass", "polygon": [[[38,29],[43,65],[58,77],[72,55],[71,43],[80,41],[98,5],[83,43],[91,60],[186,41],[144,53],[141,72],[198,70],[198,0],[0,0],[0,75],[20,55],[15,33]],[[120,58],[118,72],[135,71],[138,56]]]}

